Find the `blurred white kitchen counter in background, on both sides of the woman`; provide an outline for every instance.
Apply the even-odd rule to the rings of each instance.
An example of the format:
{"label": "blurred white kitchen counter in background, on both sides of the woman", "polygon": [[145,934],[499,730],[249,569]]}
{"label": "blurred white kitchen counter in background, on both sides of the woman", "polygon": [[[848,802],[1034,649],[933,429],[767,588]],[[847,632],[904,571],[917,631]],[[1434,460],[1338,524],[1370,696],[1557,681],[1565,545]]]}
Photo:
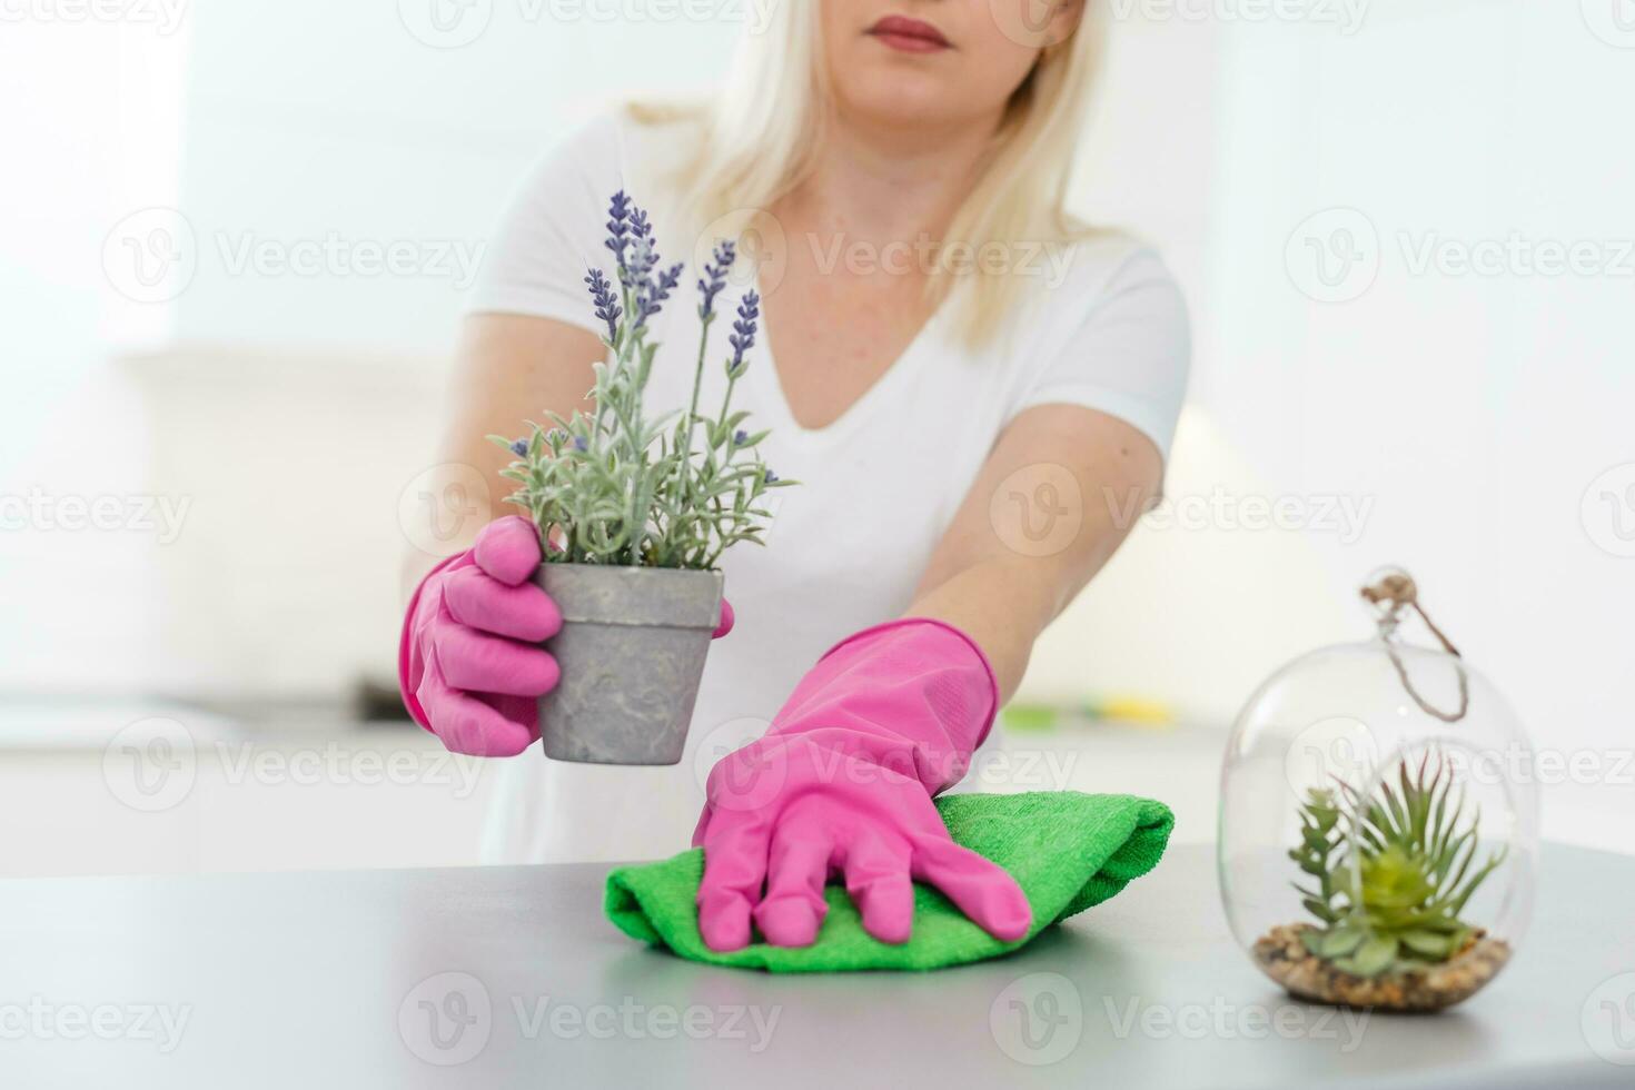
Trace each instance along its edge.
{"label": "blurred white kitchen counter in background, on both sides of the woman", "polygon": [[[497,762],[342,704],[0,703],[0,878],[471,866]],[[1215,838],[1223,727],[996,729],[958,791],[1140,794]],[[536,750],[520,760],[541,760]],[[1610,794],[1609,794],[1610,793]],[[1628,853],[1635,793],[1545,789],[1553,840]],[[685,830],[677,845],[685,843]]]}

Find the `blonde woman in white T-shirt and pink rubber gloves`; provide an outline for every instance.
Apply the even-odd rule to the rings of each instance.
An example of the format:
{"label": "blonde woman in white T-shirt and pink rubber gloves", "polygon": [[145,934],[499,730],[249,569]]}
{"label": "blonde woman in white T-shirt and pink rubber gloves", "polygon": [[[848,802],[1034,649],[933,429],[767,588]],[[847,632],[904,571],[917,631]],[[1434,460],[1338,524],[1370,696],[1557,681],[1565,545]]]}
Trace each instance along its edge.
{"label": "blonde woman in white T-shirt and pink rubber gloves", "polygon": [[[603,348],[584,275],[607,265],[625,190],[667,258],[697,268],[719,235],[760,258],[739,260],[765,299],[736,404],[801,485],[777,494],[764,549],[723,562],[737,628],[710,655],[688,758],[508,763],[492,858],[662,856],[697,819],[714,948],[752,923],[811,943],[831,874],[885,941],[909,935],[912,878],[994,935],[1027,930],[1020,891],[930,799],[1122,543],[1120,513],[1158,494],[1189,355],[1159,261],[1063,216],[1097,34],[1077,2],[1033,26],[1032,7],[777,5],[713,106],[598,121],[520,193],[468,319],[446,461],[492,474],[484,435],[587,407]],[[688,304],[656,324],[697,340]],[[683,407],[690,382],[656,368],[649,409]],[[526,582],[538,557],[526,523],[499,520],[410,603],[405,696],[455,750],[538,737],[556,663],[536,641],[559,624]],[[765,737],[714,762],[746,734]]]}

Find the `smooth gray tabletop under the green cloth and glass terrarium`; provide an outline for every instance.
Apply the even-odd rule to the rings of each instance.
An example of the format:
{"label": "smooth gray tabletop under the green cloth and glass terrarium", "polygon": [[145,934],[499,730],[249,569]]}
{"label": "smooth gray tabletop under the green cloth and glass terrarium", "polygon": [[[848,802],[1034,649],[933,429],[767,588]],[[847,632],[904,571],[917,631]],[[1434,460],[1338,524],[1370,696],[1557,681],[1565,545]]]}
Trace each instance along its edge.
{"label": "smooth gray tabletop under the green cloth and glass terrarium", "polygon": [[690,964],[603,920],[607,869],[0,882],[0,1085],[1635,1087],[1625,856],[1547,848],[1486,992],[1367,1020],[1261,977],[1203,847],[932,974]]}

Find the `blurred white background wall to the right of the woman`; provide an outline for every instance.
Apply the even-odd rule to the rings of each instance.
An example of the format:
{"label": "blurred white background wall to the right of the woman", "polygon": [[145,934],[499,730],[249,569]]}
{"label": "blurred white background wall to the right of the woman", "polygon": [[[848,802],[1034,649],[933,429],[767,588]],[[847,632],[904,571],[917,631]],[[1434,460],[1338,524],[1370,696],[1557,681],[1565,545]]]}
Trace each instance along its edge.
{"label": "blurred white background wall to the right of the woman", "polygon": [[[1622,194],[1635,144],[1614,136],[1607,105],[1635,90],[1635,31],[1610,34],[1586,18],[1594,3],[1579,8],[1375,0],[1354,34],[1215,23],[1203,59],[1176,56],[1190,25],[1125,34],[1148,74],[1215,65],[1187,113],[1153,118],[1149,142],[1127,145],[1213,150],[1166,163],[1177,170],[1159,186],[1161,219],[1143,216],[1141,194],[1122,204],[1162,224],[1179,253],[1192,234],[1176,206],[1205,222],[1182,271],[1202,279],[1194,402],[1208,427],[1187,430],[1172,495],[1337,497],[1368,516],[1354,541],[1143,531],[1074,608],[1077,639],[1053,644],[1040,680],[1068,677],[1058,652],[1071,650],[1097,683],[1140,678],[1230,713],[1303,642],[1365,634],[1351,595],[1377,564],[1401,562],[1542,744],[1630,745],[1635,219]],[[1136,105],[1136,80],[1115,78],[1131,127],[1172,100],[1140,90]],[[1360,240],[1368,257],[1344,289],[1355,297],[1316,302],[1301,293],[1316,283],[1303,243],[1339,268],[1329,232],[1351,221],[1308,221],[1333,208],[1359,211],[1377,240]],[[1457,255],[1512,237],[1586,243],[1604,268],[1416,265],[1427,240]],[[1292,239],[1306,260],[1287,260]]]}

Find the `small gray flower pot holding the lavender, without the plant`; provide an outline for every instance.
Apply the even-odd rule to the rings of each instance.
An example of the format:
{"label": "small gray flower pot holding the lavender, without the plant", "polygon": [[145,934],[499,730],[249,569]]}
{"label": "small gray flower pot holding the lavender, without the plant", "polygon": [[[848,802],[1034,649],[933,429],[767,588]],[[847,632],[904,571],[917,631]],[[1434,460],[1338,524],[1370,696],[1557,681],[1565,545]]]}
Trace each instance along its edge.
{"label": "small gray flower pot holding the lavender, without the plant", "polygon": [[544,642],[562,668],[540,698],[554,760],[675,765],[721,623],[721,574],[661,567],[541,564],[535,583],[562,611]]}

